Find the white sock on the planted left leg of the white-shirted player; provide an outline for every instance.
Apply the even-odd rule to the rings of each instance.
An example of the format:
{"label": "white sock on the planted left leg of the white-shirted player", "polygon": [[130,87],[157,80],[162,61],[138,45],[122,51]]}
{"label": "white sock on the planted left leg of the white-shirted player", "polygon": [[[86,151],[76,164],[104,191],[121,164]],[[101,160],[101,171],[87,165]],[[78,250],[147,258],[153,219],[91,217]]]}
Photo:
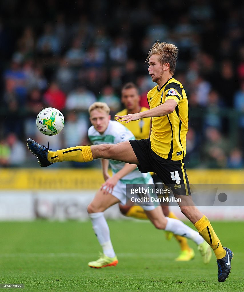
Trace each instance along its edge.
{"label": "white sock on the planted left leg of the white-shirted player", "polygon": [[109,226],[104,218],[103,212],[90,213],[89,217],[92,221],[92,228],[102,246],[103,253],[109,258],[114,258],[115,252],[110,239]]}

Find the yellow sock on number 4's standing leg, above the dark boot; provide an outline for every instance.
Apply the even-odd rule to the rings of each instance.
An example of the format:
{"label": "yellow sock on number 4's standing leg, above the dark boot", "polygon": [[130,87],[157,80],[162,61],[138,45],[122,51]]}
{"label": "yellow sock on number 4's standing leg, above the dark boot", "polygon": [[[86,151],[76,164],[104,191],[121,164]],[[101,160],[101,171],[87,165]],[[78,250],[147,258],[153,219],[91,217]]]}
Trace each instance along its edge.
{"label": "yellow sock on number 4's standing leg, above the dark boot", "polygon": [[210,224],[207,217],[203,215],[203,217],[198,220],[194,226],[197,228],[199,234],[207,241],[207,243],[212,247],[216,259],[219,260],[220,258],[224,258],[226,255],[226,251],[224,250],[219,238],[217,237],[216,233],[212,225]]}

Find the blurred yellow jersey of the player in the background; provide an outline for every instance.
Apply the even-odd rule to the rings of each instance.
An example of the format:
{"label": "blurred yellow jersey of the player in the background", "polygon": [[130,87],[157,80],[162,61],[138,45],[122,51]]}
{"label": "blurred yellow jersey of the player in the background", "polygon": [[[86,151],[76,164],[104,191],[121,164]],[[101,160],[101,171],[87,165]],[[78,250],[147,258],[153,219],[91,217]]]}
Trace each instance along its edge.
{"label": "blurred yellow jersey of the player in the background", "polygon": [[[145,112],[148,110],[146,107],[142,107],[140,112]],[[125,116],[128,114],[127,109],[123,109],[121,112],[118,112],[116,115]],[[116,117],[115,117],[116,119]],[[127,123],[125,121],[121,122],[127,129],[129,129],[137,140],[147,139],[150,131],[150,120],[151,118],[142,118],[138,121],[131,121]]]}

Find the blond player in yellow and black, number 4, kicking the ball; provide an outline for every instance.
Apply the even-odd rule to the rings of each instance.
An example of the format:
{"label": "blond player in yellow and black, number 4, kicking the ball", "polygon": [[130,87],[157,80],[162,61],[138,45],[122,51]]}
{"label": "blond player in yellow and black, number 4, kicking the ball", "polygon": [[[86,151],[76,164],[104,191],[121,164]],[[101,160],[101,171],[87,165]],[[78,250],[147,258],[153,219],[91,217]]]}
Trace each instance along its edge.
{"label": "blond player in yellow and black, number 4, kicking the ball", "polygon": [[[217,259],[218,281],[223,282],[230,273],[233,252],[222,246],[211,223],[196,208],[191,198],[184,164],[188,102],[182,84],[173,78],[177,55],[178,49],[174,44],[157,41],[152,46],[146,62],[152,81],[157,86],[147,94],[150,109],[117,117],[117,120],[126,123],[150,117],[150,139],[124,141],[115,145],[76,146],[57,151],[50,151],[30,138],[27,145],[39,159],[40,166],[44,167],[54,162],[88,162],[107,158],[137,164],[142,173],[157,173],[164,184],[173,190],[183,214],[213,249]],[[167,220],[160,223],[162,228],[166,226]]]}

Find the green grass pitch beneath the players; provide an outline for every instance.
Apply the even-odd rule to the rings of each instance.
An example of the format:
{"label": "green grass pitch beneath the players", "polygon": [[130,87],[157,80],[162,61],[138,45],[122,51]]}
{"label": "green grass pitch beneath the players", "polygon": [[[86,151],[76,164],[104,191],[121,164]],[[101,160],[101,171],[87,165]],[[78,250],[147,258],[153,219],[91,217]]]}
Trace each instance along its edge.
{"label": "green grass pitch beneath the players", "polygon": [[[232,272],[217,281],[215,256],[202,263],[177,263],[173,238],[146,221],[108,221],[118,256],[116,267],[92,269],[101,248],[90,222],[0,222],[0,284],[24,284],[10,291],[244,291],[244,222],[212,222],[224,246],[234,252]],[[190,223],[187,223],[192,226]],[[5,289],[1,289],[0,291]]]}

